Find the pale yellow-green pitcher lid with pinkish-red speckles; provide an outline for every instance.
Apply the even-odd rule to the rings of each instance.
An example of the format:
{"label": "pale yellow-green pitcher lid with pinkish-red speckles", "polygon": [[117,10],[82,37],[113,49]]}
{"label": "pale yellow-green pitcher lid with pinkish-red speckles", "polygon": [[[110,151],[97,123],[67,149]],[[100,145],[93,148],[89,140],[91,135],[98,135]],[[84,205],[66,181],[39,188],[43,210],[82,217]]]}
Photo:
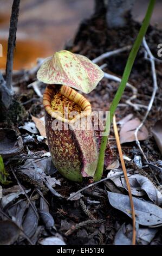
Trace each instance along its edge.
{"label": "pale yellow-green pitcher lid with pinkish-red speckles", "polygon": [[103,78],[98,65],[87,57],[69,51],[55,52],[37,72],[37,79],[47,84],[63,84],[90,93]]}

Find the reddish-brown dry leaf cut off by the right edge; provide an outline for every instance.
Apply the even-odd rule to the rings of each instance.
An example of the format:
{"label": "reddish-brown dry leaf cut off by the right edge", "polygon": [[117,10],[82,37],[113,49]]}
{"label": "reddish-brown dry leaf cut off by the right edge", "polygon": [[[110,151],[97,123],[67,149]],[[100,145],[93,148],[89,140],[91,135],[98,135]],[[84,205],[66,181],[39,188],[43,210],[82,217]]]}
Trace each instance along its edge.
{"label": "reddish-brown dry leaf cut off by the right edge", "polygon": [[153,126],[152,134],[162,154],[162,121],[158,120]]}

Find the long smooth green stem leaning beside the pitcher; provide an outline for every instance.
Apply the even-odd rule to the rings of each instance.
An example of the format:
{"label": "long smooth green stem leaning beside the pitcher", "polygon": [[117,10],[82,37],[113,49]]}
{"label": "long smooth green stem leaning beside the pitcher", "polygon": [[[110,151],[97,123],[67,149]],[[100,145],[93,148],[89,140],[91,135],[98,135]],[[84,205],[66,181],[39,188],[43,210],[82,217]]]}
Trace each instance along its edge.
{"label": "long smooth green stem leaning beside the pitcher", "polygon": [[[129,75],[131,73],[135,57],[137,56],[137,53],[138,53],[139,47],[141,45],[142,39],[144,38],[144,36],[146,34],[146,31],[147,31],[147,28],[148,28],[148,25],[150,23],[150,19],[151,19],[151,16],[152,16],[154,4],[155,4],[155,0],[150,0],[150,2],[148,4],[146,15],[145,15],[145,19],[142,23],[142,26],[141,26],[140,31],[138,33],[137,39],[134,42],[132,50],[129,53],[129,57],[127,59],[124,74],[122,75],[122,80],[121,80],[120,86],[119,86],[119,88],[118,88],[118,90],[117,90],[117,92],[114,96],[111,107],[109,109],[110,117],[107,117],[107,119],[106,119],[105,130],[108,131],[107,134],[109,134],[109,129],[110,129],[109,126],[112,123],[113,115],[114,115],[116,107],[118,106],[118,103],[121,99],[121,96],[124,93],[126,83],[128,82],[128,78],[129,78]],[[96,172],[95,172],[95,175],[94,175],[94,181],[98,181],[102,177],[107,140],[108,140],[108,136],[103,136],[102,137],[100,153],[99,153],[99,160],[98,160],[98,166],[96,168]]]}

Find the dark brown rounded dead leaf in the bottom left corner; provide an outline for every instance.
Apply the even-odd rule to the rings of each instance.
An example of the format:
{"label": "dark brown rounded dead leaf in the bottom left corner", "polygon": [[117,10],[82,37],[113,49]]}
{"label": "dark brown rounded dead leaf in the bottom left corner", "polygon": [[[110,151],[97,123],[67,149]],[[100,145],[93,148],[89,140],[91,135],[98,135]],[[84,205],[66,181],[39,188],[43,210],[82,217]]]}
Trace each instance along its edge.
{"label": "dark brown rounded dead leaf in the bottom left corner", "polygon": [[0,245],[12,245],[20,235],[20,229],[12,221],[0,221]]}

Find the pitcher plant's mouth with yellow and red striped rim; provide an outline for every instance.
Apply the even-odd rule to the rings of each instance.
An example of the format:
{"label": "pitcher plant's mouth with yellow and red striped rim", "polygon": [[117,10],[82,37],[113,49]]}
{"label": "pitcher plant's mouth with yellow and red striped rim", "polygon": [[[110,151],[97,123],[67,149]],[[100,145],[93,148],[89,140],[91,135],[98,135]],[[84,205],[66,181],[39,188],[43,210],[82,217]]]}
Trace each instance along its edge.
{"label": "pitcher plant's mouth with yellow and red striped rim", "polygon": [[[92,113],[89,101],[68,86],[48,85],[43,94],[43,105],[52,118],[69,124]],[[63,114],[64,106],[68,107],[71,115]]]}

